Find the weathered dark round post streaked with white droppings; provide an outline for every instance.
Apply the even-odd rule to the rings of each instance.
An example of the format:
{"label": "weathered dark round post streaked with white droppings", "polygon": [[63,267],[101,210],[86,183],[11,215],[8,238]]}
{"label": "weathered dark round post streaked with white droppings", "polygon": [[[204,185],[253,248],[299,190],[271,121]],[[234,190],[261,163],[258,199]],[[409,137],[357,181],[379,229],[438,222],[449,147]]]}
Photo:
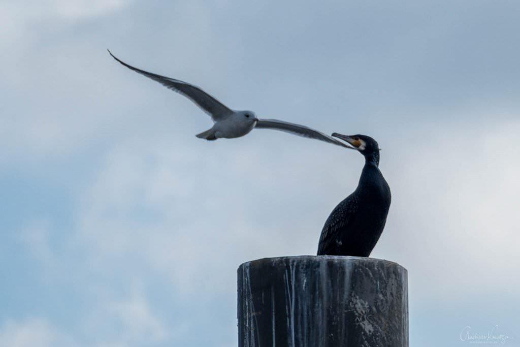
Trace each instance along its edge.
{"label": "weathered dark round post streaked with white droppings", "polygon": [[407,271],[355,256],[238,268],[239,347],[408,347]]}

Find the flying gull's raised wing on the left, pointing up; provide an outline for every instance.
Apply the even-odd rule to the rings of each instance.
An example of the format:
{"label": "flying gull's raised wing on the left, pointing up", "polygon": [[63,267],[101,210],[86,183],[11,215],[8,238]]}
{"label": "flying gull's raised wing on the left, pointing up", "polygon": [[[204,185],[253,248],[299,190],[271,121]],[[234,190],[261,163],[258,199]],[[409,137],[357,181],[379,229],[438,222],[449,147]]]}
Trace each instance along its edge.
{"label": "flying gull's raised wing on the left, pointing up", "polygon": [[134,70],[135,72],[138,72],[141,75],[145,75],[148,78],[161,83],[166,88],[172,89],[172,91],[186,96],[188,99],[197,104],[197,106],[199,106],[202,110],[204,110],[204,112],[209,114],[214,122],[219,121],[221,119],[225,119],[228,117],[228,115],[233,113],[233,111],[229,109],[226,105],[222,104],[222,102],[218,101],[213,96],[204,92],[201,88],[183,81],[171,79],[169,77],[161,76],[155,73],[134,68],[133,66],[128,65],[124,61],[121,61],[118,58],[116,58],[112,54],[112,52],[110,52],[109,49],[107,50],[108,53],[110,53],[110,55],[112,56],[112,58],[119,61],[128,69]]}

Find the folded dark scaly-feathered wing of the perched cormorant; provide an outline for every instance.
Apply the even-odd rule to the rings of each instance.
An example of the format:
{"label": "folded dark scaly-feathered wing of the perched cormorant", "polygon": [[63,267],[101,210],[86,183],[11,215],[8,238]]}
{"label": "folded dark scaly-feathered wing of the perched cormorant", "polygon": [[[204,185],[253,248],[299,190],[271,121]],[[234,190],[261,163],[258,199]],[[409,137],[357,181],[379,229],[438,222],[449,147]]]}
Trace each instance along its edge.
{"label": "folded dark scaly-feathered wing of the perched cormorant", "polygon": [[342,229],[348,226],[350,217],[356,214],[357,209],[357,199],[353,195],[346,197],[334,208],[321,230],[318,255],[335,254],[337,233],[342,232]]}

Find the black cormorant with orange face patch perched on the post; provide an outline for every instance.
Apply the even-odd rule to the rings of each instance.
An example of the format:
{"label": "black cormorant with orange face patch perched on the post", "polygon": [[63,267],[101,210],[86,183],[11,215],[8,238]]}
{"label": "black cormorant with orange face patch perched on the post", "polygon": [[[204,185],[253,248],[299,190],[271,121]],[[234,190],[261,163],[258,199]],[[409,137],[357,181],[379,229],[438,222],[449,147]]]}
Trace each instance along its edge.
{"label": "black cormorant with orange face patch perched on the post", "polygon": [[353,145],[365,156],[356,190],[332,211],[321,230],[318,255],[369,256],[378,242],[390,208],[390,187],[379,171],[379,145],[365,135],[332,136]]}

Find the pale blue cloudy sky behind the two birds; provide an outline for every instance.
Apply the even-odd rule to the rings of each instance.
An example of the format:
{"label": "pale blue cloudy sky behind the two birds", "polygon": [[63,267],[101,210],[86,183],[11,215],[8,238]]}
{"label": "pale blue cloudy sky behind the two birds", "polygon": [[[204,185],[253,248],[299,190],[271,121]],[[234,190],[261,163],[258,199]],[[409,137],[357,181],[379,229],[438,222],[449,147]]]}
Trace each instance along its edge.
{"label": "pale blue cloudy sky behind the two birds", "polygon": [[409,271],[410,345],[520,345],[520,3],[0,2],[0,346],[237,345],[236,268],[315,254],[354,151],[211,120],[367,134],[392,189],[374,258]]}

